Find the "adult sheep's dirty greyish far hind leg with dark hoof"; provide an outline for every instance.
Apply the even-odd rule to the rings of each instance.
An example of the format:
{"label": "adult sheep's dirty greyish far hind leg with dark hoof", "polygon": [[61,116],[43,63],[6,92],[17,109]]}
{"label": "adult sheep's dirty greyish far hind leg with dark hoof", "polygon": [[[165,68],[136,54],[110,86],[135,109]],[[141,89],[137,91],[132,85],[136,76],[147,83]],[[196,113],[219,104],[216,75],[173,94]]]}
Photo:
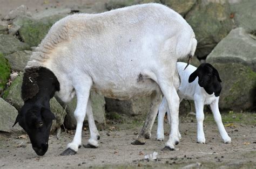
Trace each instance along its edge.
{"label": "adult sheep's dirty greyish far hind leg with dark hoof", "polygon": [[161,93],[160,91],[156,91],[151,95],[151,104],[150,104],[150,111],[147,114],[146,121],[143,125],[142,130],[139,133],[138,139],[132,142],[134,145],[141,145],[145,144],[146,139],[151,137],[151,129],[154,124],[154,120],[157,116],[157,111],[159,104],[161,102]]}

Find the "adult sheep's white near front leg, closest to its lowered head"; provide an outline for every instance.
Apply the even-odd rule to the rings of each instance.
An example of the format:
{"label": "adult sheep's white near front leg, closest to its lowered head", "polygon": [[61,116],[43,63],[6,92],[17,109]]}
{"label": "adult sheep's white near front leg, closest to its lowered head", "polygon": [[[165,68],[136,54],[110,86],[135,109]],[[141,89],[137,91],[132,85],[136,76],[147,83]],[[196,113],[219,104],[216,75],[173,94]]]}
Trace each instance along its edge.
{"label": "adult sheep's white near front leg, closest to its lowered head", "polygon": [[68,156],[68,155],[74,155],[78,151],[78,147],[82,145],[82,128],[83,128],[83,122],[84,117],[86,115],[86,107],[87,102],[90,95],[90,88],[91,88],[91,79],[83,77],[75,84],[75,90],[77,94],[77,107],[74,112],[76,121],[77,121],[77,127],[76,127],[76,133],[71,143],[68,144],[67,149],[63,151],[60,155],[62,156]]}

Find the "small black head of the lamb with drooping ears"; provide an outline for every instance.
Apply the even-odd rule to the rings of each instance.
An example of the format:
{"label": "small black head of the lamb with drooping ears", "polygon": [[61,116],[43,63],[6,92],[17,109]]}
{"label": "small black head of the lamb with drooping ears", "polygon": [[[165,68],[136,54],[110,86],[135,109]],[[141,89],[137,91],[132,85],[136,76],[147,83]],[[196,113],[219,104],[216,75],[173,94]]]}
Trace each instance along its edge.
{"label": "small black head of the lamb with drooping ears", "polygon": [[208,94],[213,94],[214,92],[216,97],[220,95],[220,76],[217,69],[211,64],[201,64],[196,71],[190,75],[188,82],[193,82],[197,76],[199,86],[203,87]]}

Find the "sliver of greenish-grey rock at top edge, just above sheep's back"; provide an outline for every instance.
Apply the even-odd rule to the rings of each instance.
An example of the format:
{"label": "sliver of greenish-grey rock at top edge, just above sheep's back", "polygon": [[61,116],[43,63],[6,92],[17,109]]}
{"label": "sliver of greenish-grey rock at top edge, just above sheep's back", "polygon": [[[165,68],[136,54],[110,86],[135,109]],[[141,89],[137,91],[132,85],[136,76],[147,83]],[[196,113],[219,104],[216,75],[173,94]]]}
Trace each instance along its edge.
{"label": "sliver of greenish-grey rock at top edge, just above sheep's back", "polygon": [[123,8],[125,6],[136,5],[140,0],[110,0],[106,3],[106,9],[112,10],[117,8]]}

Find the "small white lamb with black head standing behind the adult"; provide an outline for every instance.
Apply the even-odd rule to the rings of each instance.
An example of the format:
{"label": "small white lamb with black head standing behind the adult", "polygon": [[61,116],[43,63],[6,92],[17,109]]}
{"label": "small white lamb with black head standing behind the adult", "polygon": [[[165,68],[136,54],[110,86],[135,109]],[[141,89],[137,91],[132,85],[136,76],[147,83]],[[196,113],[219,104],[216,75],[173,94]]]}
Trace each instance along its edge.
{"label": "small white lamb with black head standing behind the adult", "polygon": [[[178,95],[180,102],[183,99],[194,100],[197,118],[197,142],[203,144],[205,143],[205,135],[203,130],[203,110],[205,104],[210,104],[215,122],[218,125],[218,129],[224,143],[231,143],[231,138],[228,136],[221,121],[221,115],[218,107],[219,95],[221,91],[221,80],[217,69],[210,64],[201,64],[198,68],[189,65],[184,71],[185,66],[185,63],[177,62],[177,69],[181,79]],[[163,123],[166,111],[168,111],[167,102],[166,98],[163,98],[158,112],[157,139],[160,141],[164,140]]]}

